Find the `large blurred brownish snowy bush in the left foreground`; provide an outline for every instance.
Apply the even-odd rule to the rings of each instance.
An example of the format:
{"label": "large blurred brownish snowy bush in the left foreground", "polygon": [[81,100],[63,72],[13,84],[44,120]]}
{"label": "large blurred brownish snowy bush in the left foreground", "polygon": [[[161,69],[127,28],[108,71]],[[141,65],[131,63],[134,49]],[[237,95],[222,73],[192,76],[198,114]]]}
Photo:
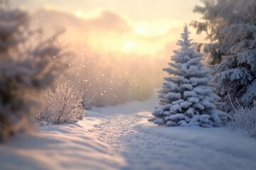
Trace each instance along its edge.
{"label": "large blurred brownish snowy bush in the left foreground", "polygon": [[53,83],[66,56],[56,41],[29,28],[28,13],[0,1],[0,140],[31,130],[30,95]]}

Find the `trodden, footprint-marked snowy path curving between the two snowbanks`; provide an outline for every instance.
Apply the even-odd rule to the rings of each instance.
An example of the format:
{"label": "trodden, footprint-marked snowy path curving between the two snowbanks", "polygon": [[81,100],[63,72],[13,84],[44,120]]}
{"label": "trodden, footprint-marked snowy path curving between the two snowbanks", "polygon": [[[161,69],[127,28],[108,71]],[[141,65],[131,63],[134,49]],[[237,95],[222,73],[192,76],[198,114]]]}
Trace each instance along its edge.
{"label": "trodden, footprint-marked snowy path curving between the two snowbanks", "polygon": [[137,125],[141,119],[137,113],[115,114],[92,130],[124,157],[122,169],[255,169],[255,160],[247,155],[143,132]]}

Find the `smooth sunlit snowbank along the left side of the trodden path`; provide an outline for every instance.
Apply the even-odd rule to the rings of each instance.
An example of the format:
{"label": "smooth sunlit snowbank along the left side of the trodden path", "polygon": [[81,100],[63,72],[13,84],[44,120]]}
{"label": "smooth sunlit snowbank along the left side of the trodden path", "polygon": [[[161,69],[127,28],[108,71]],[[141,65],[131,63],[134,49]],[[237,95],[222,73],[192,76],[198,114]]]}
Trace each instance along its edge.
{"label": "smooth sunlit snowbank along the left side of the trodden path", "polygon": [[119,169],[124,159],[90,132],[106,116],[87,114],[78,124],[40,127],[0,145],[0,169]]}

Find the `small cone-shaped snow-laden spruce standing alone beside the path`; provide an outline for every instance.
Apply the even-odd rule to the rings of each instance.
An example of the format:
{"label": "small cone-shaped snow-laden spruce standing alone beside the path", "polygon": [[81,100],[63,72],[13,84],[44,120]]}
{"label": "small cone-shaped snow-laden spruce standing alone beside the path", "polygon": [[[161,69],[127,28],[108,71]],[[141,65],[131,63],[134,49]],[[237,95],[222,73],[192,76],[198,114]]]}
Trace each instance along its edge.
{"label": "small cone-shaped snow-laden spruce standing alone beside the path", "polygon": [[196,52],[189,39],[188,27],[181,33],[159,92],[159,106],[156,106],[149,121],[158,125],[219,127],[227,120],[227,114],[218,111],[220,99],[209,86],[210,69],[201,63],[203,54]]}

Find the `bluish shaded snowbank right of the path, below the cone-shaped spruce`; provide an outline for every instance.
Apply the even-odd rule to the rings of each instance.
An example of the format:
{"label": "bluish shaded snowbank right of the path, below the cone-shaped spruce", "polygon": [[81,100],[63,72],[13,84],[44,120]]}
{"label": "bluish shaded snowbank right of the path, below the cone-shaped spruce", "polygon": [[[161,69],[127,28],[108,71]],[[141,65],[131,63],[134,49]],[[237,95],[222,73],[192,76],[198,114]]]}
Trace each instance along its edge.
{"label": "bluish shaded snowbank right of the path, below the cone-shaped spruce", "polygon": [[[221,152],[227,156],[237,157],[246,162],[243,166],[230,164],[228,169],[255,169],[256,167],[256,142],[255,139],[244,137],[237,132],[230,132],[228,128],[201,128],[201,127],[165,127],[154,125],[146,121],[146,118],[151,117],[151,113],[138,113],[140,117],[136,127],[139,131],[147,134],[158,134],[161,137],[204,149],[212,149],[216,152]],[[192,152],[192,151],[191,151]],[[195,154],[196,155],[196,154]],[[205,155],[206,159],[213,159],[218,155]],[[228,158],[227,158],[228,160]],[[203,161],[203,160],[202,160]],[[215,167],[215,169],[225,169],[223,166]]]}

